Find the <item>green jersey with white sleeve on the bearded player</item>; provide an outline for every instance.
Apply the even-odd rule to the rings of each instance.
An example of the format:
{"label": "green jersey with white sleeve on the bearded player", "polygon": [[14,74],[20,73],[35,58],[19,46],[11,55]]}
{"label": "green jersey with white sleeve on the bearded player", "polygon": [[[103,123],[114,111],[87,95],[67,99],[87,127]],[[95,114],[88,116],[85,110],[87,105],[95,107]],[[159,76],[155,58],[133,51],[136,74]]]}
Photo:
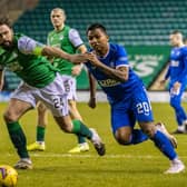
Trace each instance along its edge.
{"label": "green jersey with white sleeve on the bearded player", "polygon": [[13,46],[0,49],[0,69],[13,71],[28,85],[43,88],[53,81],[56,69],[46,57],[37,56],[43,45],[23,35],[13,36]]}

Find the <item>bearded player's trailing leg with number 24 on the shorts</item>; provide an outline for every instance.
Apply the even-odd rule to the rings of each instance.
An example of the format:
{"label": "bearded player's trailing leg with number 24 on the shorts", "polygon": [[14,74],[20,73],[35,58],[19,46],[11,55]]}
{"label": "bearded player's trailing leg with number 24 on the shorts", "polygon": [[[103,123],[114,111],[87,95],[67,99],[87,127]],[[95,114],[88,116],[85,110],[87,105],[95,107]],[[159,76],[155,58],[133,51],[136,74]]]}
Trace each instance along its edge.
{"label": "bearded player's trailing leg with number 24 on the shorts", "polygon": [[[98,134],[89,129],[80,120],[71,120],[69,116],[68,99],[62,82],[62,77],[57,73],[57,77],[52,83],[43,89],[40,89],[40,100],[51,110],[53,118],[59,127],[69,134],[82,136],[91,140],[95,148],[100,156],[105,155],[105,145],[102,144]],[[49,92],[48,98],[46,92]]]}

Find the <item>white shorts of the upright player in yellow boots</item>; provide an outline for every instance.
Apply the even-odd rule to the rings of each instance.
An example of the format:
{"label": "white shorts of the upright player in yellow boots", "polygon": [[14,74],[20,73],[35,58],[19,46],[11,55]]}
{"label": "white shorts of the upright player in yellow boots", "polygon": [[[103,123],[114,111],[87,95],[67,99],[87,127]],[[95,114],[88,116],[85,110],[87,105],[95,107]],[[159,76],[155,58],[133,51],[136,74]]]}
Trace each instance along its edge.
{"label": "white shorts of the upright player in yellow boots", "polygon": [[77,100],[76,89],[77,89],[77,80],[71,76],[63,76],[63,86],[68,94],[68,100]]}

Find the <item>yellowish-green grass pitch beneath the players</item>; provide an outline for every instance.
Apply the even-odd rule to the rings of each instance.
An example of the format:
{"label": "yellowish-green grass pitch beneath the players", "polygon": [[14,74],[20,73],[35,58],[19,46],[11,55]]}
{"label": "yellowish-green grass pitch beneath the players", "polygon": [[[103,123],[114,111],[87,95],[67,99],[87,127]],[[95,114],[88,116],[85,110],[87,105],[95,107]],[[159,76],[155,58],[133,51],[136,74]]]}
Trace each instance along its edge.
{"label": "yellowish-green grass pitch beneath the players", "polygon": [[[7,104],[0,104],[0,164],[12,166],[18,156],[9,139],[2,112]],[[49,115],[49,126],[46,132],[46,151],[30,152],[33,161],[32,170],[18,170],[18,187],[176,187],[187,186],[186,173],[164,175],[169,161],[149,140],[136,146],[118,145],[110,131],[109,106],[98,104],[96,109],[89,109],[86,104],[78,108],[89,127],[98,130],[102,137],[107,154],[99,157],[92,145],[90,151],[69,155],[70,148],[77,144],[73,135],[62,132]],[[185,105],[187,109],[187,105]],[[152,104],[156,121],[166,122],[169,131],[176,129],[174,111],[168,104]],[[36,110],[29,111],[21,125],[28,138],[28,144],[36,139]],[[177,152],[187,165],[187,135],[176,136]]]}

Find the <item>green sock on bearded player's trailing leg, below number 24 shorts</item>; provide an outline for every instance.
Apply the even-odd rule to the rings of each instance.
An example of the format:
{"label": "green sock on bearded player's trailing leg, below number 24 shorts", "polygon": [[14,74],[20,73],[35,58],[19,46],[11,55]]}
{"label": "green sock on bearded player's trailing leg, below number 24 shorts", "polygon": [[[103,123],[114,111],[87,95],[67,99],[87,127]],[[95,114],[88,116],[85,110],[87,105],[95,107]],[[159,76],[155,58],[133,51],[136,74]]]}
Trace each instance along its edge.
{"label": "green sock on bearded player's trailing leg, below number 24 shorts", "polygon": [[73,128],[71,132],[78,136],[87,137],[88,139],[91,139],[92,132],[80,120],[72,120],[72,125],[73,125]]}

